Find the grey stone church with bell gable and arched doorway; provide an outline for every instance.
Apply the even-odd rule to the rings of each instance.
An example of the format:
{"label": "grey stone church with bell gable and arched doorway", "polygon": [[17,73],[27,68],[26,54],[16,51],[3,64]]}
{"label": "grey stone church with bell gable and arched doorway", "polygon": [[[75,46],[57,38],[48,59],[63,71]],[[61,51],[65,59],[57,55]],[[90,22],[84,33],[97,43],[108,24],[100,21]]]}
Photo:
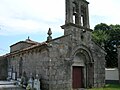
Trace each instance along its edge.
{"label": "grey stone church with bell gable and arched doorway", "polygon": [[8,69],[5,70],[12,69],[16,78],[23,73],[28,78],[31,73],[33,77],[38,74],[41,90],[102,87],[105,85],[105,52],[91,39],[89,2],[65,0],[65,3],[63,36],[52,39],[49,29],[45,42],[29,38],[17,42],[10,46],[10,53],[0,57],[0,63],[6,60]]}

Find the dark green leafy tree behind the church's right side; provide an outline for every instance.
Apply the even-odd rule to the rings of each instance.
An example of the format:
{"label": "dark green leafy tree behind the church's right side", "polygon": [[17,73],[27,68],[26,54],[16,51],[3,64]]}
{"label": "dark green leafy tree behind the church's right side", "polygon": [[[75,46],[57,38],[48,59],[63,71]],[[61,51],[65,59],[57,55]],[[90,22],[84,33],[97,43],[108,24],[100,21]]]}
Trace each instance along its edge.
{"label": "dark green leafy tree behind the church's right side", "polygon": [[118,67],[117,46],[120,45],[120,25],[97,24],[92,39],[105,49],[106,67]]}

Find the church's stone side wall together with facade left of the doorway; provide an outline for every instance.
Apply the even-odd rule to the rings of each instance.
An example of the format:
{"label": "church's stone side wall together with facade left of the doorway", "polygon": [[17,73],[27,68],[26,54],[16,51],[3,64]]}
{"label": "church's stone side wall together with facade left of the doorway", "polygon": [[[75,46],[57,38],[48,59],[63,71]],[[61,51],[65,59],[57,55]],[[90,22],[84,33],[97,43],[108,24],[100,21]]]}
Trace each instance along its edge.
{"label": "church's stone side wall together with facade left of the doorway", "polygon": [[42,90],[71,90],[71,61],[65,60],[68,46],[66,37],[51,41],[46,47],[37,47],[25,52],[10,56],[10,65],[13,72],[19,75],[19,63],[22,58],[22,72],[40,75]]}

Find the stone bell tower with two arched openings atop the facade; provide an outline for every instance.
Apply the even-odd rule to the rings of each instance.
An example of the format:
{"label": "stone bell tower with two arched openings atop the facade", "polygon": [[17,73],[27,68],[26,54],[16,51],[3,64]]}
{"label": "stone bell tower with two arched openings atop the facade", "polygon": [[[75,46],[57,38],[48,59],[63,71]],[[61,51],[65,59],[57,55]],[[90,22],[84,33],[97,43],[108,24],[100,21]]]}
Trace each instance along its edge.
{"label": "stone bell tower with two arched openings atop the facade", "polygon": [[86,0],[65,1],[65,25],[61,26],[62,29],[64,29],[64,35],[74,32],[74,27],[77,27],[83,31],[90,28],[88,4],[89,2]]}

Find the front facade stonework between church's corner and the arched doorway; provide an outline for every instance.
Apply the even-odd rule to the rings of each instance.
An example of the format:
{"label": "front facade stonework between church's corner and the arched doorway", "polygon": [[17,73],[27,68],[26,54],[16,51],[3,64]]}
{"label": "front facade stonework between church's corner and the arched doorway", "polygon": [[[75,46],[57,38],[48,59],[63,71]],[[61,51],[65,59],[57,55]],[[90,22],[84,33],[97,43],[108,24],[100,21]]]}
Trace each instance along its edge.
{"label": "front facade stonework between church's corner and the arched doorway", "polygon": [[67,38],[64,37],[51,42],[52,48],[50,49],[50,90],[72,89],[72,62],[65,59],[69,51],[65,39]]}

